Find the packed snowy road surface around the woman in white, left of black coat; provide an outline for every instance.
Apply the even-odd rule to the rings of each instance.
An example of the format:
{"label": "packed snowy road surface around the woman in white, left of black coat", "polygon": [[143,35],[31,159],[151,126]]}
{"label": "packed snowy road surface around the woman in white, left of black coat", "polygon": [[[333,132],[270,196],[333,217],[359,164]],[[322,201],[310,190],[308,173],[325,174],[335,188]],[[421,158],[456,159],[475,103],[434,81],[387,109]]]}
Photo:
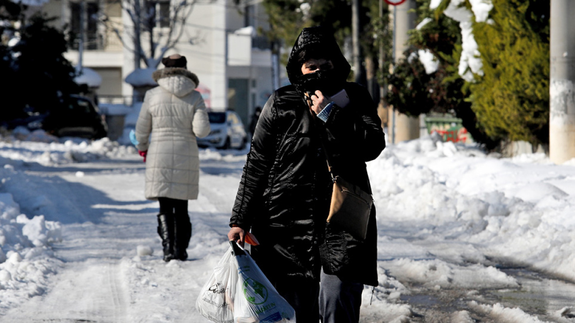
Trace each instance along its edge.
{"label": "packed snowy road surface around the woman in white, left of black coat", "polygon": [[[227,249],[229,210],[243,166],[243,157],[235,159],[206,158],[202,193],[189,205],[194,225],[190,261],[167,264],[155,232],[158,204],[142,198],[139,156],[62,167],[26,164],[26,174],[18,174],[28,183],[20,198],[42,196],[49,202],[30,203],[30,209],[21,203],[21,211],[60,221],[62,241],[52,245],[56,274],[46,289],[0,321],[208,322],[194,303]],[[154,252],[137,256],[138,246]]]}

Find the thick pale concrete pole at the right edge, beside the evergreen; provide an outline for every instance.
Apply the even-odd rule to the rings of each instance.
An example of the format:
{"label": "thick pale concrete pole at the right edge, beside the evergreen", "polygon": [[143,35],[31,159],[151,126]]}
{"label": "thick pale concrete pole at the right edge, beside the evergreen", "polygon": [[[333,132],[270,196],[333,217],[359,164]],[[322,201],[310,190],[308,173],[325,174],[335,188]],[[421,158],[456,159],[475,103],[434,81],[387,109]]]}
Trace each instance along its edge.
{"label": "thick pale concrete pole at the right edge, beside the evergreen", "polygon": [[551,0],[549,157],[575,158],[575,2]]}

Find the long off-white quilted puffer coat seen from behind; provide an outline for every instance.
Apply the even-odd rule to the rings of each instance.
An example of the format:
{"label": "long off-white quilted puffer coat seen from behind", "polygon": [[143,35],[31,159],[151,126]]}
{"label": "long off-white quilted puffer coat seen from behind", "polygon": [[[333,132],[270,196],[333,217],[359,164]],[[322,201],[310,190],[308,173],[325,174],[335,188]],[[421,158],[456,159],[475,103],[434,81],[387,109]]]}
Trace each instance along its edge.
{"label": "long off-white quilted puffer coat seen from behind", "polygon": [[196,137],[210,132],[204,99],[194,90],[198,78],[185,68],[163,68],[152,78],[159,86],[145,94],[136,123],[136,148],[148,151],[145,198],[196,199],[200,172]]}

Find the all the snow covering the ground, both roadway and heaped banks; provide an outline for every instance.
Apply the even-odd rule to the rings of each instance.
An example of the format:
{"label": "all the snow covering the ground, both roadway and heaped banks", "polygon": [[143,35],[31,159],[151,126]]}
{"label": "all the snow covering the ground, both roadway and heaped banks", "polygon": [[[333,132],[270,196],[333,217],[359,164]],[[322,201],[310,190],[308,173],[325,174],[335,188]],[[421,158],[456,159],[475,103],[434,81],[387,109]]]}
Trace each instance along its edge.
{"label": "all the snow covering the ground, both roadway and heaped banks", "polygon": [[[166,263],[134,147],[2,137],[0,321],[209,322],[196,299],[229,248],[247,149],[201,149],[189,260]],[[575,159],[503,158],[432,135],[388,145],[367,168],[379,286],[363,292],[362,322],[416,322],[434,313],[420,308],[430,297],[454,293],[443,322],[575,322]],[[538,282],[542,308],[509,301]]]}

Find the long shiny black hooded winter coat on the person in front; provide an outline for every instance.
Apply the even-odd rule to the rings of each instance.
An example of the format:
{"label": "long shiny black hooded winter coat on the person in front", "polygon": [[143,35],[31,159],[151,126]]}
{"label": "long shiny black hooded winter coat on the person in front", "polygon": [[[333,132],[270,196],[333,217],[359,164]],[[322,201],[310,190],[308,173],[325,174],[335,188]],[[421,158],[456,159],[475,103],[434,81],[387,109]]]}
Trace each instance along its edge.
{"label": "long shiny black hooded winter coat on the person in front", "polygon": [[[312,117],[298,86],[298,54],[317,45],[329,52],[350,97],[346,107],[333,107],[325,124]],[[364,87],[344,82],[349,72],[332,34],[305,28],[287,63],[292,85],[275,91],[260,114],[230,226],[251,229],[260,243],[252,247],[252,256],[272,282],[286,276],[317,281],[323,266],[345,281],[378,284],[375,209],[365,241],[325,221],[333,183],[320,140],[333,172],[369,192],[366,161],[385,147],[377,107]]]}

